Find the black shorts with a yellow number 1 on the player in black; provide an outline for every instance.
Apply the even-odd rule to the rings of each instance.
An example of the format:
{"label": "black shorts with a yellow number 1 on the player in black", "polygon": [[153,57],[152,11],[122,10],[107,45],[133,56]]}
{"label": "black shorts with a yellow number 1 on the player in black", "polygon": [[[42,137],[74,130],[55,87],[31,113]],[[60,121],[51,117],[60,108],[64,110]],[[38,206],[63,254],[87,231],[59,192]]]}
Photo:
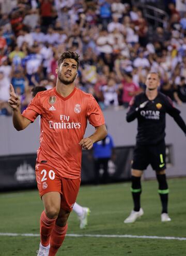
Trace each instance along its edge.
{"label": "black shorts with a yellow number 1 on the player in black", "polygon": [[134,149],[132,169],[145,170],[151,165],[153,170],[166,169],[165,141],[156,145],[136,145]]}

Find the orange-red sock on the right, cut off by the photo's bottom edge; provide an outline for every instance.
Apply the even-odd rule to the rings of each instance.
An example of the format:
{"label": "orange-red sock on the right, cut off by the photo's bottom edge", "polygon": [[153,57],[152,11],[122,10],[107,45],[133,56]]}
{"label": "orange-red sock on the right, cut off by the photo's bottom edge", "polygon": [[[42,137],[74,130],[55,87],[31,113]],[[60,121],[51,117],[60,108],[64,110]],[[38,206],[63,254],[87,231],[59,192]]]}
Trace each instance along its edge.
{"label": "orange-red sock on the right, cut off by the photo's bottom edge", "polygon": [[68,224],[64,227],[55,225],[50,237],[50,251],[49,256],[55,256],[59,247],[63,244],[65,235],[67,233]]}

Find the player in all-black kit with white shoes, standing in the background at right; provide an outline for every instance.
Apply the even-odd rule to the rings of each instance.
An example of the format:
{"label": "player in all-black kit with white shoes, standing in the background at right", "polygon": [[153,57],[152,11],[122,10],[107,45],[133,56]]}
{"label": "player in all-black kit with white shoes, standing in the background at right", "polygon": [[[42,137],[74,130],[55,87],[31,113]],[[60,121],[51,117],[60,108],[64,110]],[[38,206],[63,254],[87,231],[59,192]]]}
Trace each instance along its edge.
{"label": "player in all-black kit with white shoes, standing in the background at right", "polygon": [[132,164],[132,197],[134,209],[125,223],[132,223],[144,214],[140,205],[142,192],[141,176],[143,170],[150,164],[156,171],[159,183],[162,213],[161,221],[170,221],[167,212],[168,185],[165,175],[165,114],[172,116],[178,126],[186,134],[186,125],[180,116],[180,111],[173,106],[172,101],[158,92],[160,78],[158,73],[149,73],[146,79],[146,91],[135,96],[130,103],[127,122],[137,118],[137,136]]}

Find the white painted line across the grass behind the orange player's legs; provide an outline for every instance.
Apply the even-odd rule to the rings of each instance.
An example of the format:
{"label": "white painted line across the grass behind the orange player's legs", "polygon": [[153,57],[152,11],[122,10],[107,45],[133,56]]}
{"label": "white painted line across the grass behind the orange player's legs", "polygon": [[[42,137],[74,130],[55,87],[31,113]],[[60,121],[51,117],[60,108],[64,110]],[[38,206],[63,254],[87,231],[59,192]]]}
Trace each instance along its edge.
{"label": "white painted line across the grass behind the orange player's legs", "polygon": [[[32,236],[38,237],[39,234],[19,234],[19,233],[0,233],[0,236]],[[71,237],[107,237],[107,238],[143,238],[143,239],[164,239],[164,240],[181,240],[185,241],[186,237],[174,236],[135,236],[135,235],[90,235],[90,234],[67,234]]]}

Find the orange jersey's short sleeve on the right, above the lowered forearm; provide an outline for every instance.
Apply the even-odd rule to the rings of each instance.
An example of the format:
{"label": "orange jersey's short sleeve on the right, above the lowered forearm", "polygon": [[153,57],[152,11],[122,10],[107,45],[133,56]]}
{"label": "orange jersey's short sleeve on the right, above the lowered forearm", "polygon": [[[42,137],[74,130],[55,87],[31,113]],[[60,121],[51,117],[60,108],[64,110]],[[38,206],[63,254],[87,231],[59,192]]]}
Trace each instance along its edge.
{"label": "orange jersey's short sleeve on the right, above the lowered forearm", "polygon": [[100,109],[100,106],[92,95],[90,96],[88,103],[87,117],[90,124],[94,127],[105,124],[104,116]]}

